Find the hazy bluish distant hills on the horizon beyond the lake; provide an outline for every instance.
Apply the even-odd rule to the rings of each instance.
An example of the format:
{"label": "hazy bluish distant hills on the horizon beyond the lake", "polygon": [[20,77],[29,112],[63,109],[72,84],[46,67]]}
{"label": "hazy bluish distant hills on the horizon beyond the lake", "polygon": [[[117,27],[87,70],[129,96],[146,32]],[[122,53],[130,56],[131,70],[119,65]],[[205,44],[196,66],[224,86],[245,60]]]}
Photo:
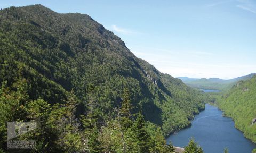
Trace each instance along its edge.
{"label": "hazy bluish distant hills on the horizon beyond the lake", "polygon": [[219,79],[219,78],[188,79],[183,77],[180,77],[179,79],[181,79],[188,86],[198,88],[198,89],[229,90],[238,81],[251,79],[255,74],[256,73],[251,73],[242,77],[237,77],[237,78],[228,79],[228,80]]}

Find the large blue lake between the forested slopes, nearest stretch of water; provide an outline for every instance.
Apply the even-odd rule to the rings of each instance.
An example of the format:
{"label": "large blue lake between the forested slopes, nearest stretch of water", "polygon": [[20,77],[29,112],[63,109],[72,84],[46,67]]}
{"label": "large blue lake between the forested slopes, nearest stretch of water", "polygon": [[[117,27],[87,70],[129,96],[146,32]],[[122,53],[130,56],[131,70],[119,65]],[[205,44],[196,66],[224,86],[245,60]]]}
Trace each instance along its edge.
{"label": "large blue lake between the forested slopes, nearest stretch of water", "polygon": [[221,153],[227,147],[230,153],[251,153],[256,144],[246,139],[234,127],[229,117],[223,117],[217,107],[205,104],[205,110],[195,116],[192,126],[170,135],[167,142],[184,147],[193,137],[205,153]]}

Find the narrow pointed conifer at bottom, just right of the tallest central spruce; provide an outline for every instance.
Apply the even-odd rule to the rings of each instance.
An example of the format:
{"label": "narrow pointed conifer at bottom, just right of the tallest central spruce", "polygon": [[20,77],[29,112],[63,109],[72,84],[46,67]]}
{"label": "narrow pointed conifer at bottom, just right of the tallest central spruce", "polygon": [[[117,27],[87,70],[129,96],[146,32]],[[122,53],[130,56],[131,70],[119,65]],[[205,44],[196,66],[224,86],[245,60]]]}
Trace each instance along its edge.
{"label": "narrow pointed conifer at bottom, just right of the tallest central spruce", "polygon": [[150,135],[146,131],[146,123],[141,112],[138,113],[137,120],[134,123],[134,132],[138,139],[138,146],[140,147],[139,152],[149,152]]}

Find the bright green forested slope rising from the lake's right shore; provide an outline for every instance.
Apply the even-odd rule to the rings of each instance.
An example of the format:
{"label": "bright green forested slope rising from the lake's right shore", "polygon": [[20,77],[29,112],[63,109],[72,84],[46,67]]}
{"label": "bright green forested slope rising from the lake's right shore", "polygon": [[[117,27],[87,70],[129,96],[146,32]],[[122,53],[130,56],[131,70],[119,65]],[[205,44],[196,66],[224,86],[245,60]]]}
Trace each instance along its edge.
{"label": "bright green forested slope rising from the lake's right shore", "polygon": [[236,128],[256,142],[256,76],[239,81],[217,102],[224,115],[234,119]]}

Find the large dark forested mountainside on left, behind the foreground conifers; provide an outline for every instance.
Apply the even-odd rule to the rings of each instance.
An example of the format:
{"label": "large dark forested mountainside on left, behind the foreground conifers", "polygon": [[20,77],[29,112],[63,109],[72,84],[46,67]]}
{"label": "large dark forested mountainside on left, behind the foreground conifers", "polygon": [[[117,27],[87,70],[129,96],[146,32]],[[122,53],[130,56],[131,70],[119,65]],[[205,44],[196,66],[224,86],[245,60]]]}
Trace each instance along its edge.
{"label": "large dark forested mountainside on left, behind the foreground conifers", "polygon": [[0,11],[0,46],[0,82],[10,86],[21,71],[33,100],[61,103],[74,89],[85,104],[86,87],[93,83],[98,86],[97,109],[107,118],[128,87],[134,112],[141,109],[165,135],[185,128],[204,109],[202,92],[135,57],[119,37],[86,14],[59,14],[42,5],[6,8]]}

